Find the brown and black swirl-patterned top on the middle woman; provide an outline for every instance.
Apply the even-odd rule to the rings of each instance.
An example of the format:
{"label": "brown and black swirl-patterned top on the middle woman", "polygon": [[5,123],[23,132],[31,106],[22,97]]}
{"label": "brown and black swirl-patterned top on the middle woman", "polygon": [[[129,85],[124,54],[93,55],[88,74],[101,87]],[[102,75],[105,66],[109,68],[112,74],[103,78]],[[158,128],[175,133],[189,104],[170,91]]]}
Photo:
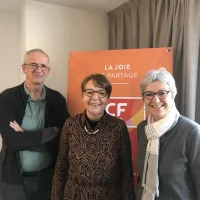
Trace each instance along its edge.
{"label": "brown and black swirl-patterned top on the middle woman", "polygon": [[[96,134],[88,134],[99,129]],[[52,200],[133,200],[131,145],[126,124],[105,113],[92,129],[85,112],[64,124]]]}

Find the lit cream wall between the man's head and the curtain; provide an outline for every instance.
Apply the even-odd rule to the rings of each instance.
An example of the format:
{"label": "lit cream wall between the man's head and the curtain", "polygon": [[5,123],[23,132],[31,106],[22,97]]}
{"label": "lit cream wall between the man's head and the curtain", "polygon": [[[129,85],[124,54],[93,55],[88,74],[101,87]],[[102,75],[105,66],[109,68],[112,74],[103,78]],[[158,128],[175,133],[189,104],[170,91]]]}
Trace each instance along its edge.
{"label": "lit cream wall between the man's head and the curtain", "polygon": [[47,85],[67,93],[69,51],[108,49],[106,14],[27,0],[25,48],[42,48],[50,56]]}

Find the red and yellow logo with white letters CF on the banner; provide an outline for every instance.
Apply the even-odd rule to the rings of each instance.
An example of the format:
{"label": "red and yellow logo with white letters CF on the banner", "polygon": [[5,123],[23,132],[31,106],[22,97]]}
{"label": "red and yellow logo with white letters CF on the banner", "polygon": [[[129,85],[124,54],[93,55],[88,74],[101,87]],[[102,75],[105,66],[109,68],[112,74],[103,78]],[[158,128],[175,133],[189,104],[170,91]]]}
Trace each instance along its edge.
{"label": "red and yellow logo with white letters CF on the banner", "polygon": [[110,115],[120,118],[130,128],[135,128],[145,119],[143,101],[140,97],[111,97],[106,111]]}

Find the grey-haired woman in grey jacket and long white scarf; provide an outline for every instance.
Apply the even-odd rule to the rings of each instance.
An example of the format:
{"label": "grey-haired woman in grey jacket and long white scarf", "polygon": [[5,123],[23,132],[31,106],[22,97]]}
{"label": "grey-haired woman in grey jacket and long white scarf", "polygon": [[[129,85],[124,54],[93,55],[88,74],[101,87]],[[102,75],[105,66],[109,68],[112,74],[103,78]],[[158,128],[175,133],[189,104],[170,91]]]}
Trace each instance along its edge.
{"label": "grey-haired woman in grey jacket and long white scarf", "polygon": [[140,84],[148,119],[138,125],[137,200],[200,199],[200,125],[181,116],[173,76],[150,70]]}

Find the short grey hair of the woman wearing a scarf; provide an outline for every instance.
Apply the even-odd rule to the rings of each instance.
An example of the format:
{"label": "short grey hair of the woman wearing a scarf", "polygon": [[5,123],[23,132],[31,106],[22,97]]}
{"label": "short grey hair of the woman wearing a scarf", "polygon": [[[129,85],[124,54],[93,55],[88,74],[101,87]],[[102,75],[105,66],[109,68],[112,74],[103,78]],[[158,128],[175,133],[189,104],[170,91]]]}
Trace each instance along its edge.
{"label": "short grey hair of the woman wearing a scarf", "polygon": [[176,83],[173,76],[165,69],[159,68],[158,70],[149,70],[140,82],[141,94],[144,93],[145,88],[153,82],[160,82],[169,87],[172,97],[175,98],[177,94]]}

